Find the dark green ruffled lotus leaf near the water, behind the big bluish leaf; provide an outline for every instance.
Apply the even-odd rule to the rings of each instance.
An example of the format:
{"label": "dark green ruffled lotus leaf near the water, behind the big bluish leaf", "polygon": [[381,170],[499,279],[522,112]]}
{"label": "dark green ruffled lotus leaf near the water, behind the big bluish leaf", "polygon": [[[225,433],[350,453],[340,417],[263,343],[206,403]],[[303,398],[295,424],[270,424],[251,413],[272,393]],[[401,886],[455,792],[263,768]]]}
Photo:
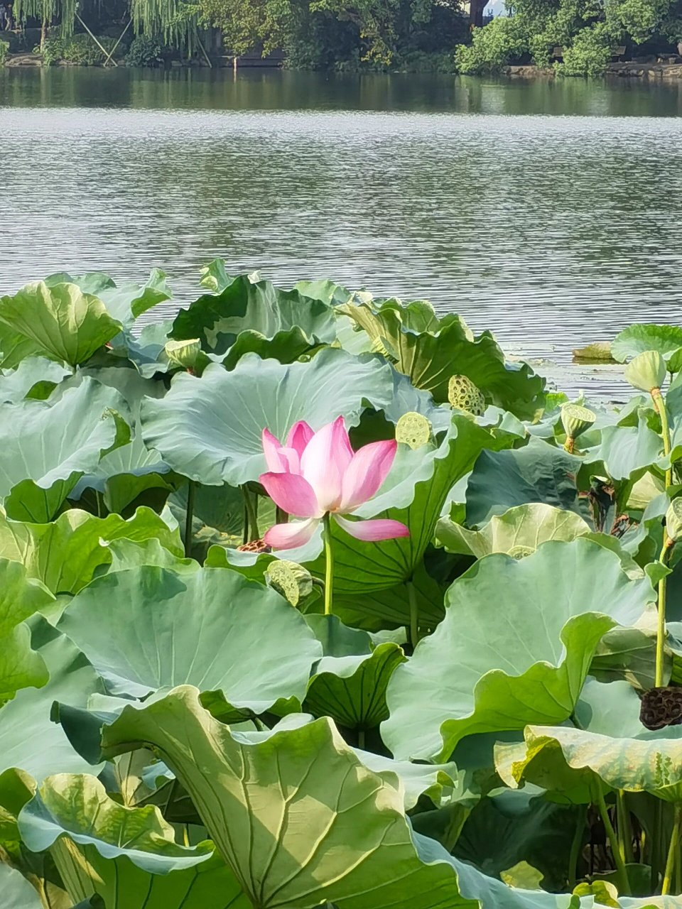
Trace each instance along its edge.
{"label": "dark green ruffled lotus leaf near the water, behind the big bluish leaf", "polygon": [[269,281],[239,275],[218,294],[200,296],[181,309],[171,335],[178,340],[199,338],[207,354],[221,355],[228,354],[243,332],[254,337],[242,353],[254,349],[256,336],[274,340],[286,335],[289,350],[282,347],[281,352],[293,362],[310,347],[336,341],[334,310],[297,290],[279,290]]}

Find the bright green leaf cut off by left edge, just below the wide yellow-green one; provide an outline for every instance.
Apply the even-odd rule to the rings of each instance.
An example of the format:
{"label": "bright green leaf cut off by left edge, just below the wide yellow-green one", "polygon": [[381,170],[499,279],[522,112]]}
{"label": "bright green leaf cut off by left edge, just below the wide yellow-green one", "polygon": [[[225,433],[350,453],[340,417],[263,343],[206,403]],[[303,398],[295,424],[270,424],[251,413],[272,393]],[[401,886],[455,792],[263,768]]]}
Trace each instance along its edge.
{"label": "bright green leaf cut off by left edge, just below the wide yellow-green one", "polygon": [[44,584],[26,577],[24,565],[0,558],[0,699],[47,681],[45,661],[31,649],[31,631],[24,620],[53,599]]}

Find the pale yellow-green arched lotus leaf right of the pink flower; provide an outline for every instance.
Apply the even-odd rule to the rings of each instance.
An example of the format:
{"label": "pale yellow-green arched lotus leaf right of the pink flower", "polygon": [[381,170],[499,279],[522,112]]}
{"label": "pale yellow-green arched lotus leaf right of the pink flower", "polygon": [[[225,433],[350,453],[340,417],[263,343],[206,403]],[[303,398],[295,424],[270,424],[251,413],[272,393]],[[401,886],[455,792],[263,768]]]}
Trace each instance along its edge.
{"label": "pale yellow-green arched lotus leaf right of the pink flower", "polygon": [[535,552],[547,540],[575,540],[589,533],[589,525],[575,512],[539,502],[494,514],[480,530],[466,530],[449,517],[436,525],[437,541],[448,552],[477,559],[490,553],[511,554],[519,546]]}

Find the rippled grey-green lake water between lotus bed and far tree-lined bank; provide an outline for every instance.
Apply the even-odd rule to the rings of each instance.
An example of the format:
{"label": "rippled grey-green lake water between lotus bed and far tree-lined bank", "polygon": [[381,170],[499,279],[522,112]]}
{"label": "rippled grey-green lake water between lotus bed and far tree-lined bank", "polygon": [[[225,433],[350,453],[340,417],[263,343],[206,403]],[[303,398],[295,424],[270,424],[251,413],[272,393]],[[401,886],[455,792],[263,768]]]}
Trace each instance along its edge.
{"label": "rippled grey-green lake water between lotus bed and far tree-lined bank", "polygon": [[619,396],[571,349],[682,323],[682,82],[0,69],[0,290],[53,271],[186,304],[200,265],[426,298]]}

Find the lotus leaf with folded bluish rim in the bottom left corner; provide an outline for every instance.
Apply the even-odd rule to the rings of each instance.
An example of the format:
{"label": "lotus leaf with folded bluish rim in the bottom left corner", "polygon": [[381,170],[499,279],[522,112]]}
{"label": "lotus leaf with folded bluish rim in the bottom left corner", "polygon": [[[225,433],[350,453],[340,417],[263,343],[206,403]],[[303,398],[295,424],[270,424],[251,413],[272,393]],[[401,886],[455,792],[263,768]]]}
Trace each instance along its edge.
{"label": "lotus leaf with folded bluish rim in the bottom left corner", "polygon": [[33,852],[49,849],[72,900],[99,894],[107,909],[250,905],[212,844],[176,844],[158,808],[117,804],[94,776],[48,777],[18,827]]}

